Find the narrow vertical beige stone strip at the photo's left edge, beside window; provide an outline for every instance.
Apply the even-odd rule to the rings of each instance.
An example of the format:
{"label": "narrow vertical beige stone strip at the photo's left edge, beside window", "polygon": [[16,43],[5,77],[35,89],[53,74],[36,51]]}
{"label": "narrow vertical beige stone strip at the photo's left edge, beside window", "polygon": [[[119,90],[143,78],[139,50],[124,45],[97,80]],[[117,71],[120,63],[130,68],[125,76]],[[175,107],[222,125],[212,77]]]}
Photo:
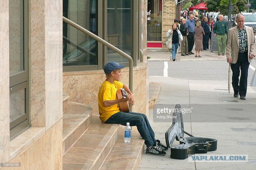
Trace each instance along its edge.
{"label": "narrow vertical beige stone strip at the photo's left edge, beside window", "polygon": [[0,1],[0,162],[10,160],[9,0]]}

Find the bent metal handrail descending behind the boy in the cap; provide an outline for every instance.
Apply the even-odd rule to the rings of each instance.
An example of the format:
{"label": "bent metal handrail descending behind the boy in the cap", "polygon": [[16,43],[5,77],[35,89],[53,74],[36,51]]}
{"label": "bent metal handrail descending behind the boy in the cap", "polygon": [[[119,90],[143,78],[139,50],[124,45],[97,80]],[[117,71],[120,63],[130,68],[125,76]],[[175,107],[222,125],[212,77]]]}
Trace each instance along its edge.
{"label": "bent metal handrail descending behind the boy in the cap", "polygon": [[74,23],[71,20],[68,20],[68,18],[65,18],[64,16],[62,16],[62,20],[66,23],[68,23],[69,25],[75,27],[76,29],[78,29],[79,31],[82,31],[83,33],[85,33],[86,35],[92,37],[93,39],[95,39],[96,41],[102,43],[103,45],[106,45],[106,47],[112,49],[113,51],[115,51],[116,53],[122,55],[123,57],[125,57],[126,59],[129,60],[129,89],[132,92],[133,91],[133,61],[132,61],[132,57],[126,53],[124,53],[123,51],[121,51],[120,49],[116,48],[114,45],[108,43],[107,41],[105,41],[104,39],[98,37],[97,35],[95,35],[94,33],[91,33],[90,31],[88,31],[87,29],[81,27],[80,25]]}

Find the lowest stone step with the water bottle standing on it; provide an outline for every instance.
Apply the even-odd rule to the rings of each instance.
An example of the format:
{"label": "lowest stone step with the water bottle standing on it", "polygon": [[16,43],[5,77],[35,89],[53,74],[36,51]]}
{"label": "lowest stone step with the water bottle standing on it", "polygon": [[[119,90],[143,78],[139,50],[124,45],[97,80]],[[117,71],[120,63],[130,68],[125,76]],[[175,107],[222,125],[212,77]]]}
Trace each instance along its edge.
{"label": "lowest stone step with the water bottle standing on it", "polygon": [[124,126],[118,129],[118,140],[102,164],[101,170],[137,170],[144,152],[144,140],[132,131],[130,143],[124,143]]}

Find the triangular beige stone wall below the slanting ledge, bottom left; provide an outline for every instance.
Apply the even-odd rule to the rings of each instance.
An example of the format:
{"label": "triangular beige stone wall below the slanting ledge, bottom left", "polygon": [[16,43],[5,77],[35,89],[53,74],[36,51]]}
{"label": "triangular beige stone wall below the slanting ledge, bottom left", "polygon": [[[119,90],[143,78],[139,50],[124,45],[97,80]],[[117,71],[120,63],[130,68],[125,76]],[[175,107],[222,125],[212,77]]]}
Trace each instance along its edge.
{"label": "triangular beige stone wall below the slanting ledge, bottom left", "polygon": [[[20,163],[20,170],[61,170],[62,169],[62,121],[16,156],[12,163]],[[1,169],[1,168],[0,168]],[[11,170],[10,167],[1,170]]]}

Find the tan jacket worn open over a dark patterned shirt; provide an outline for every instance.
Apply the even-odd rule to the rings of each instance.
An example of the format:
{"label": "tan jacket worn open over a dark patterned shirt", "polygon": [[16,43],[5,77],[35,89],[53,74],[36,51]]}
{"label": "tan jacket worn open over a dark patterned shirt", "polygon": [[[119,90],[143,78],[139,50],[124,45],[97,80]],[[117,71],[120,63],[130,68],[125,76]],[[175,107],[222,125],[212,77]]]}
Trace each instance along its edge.
{"label": "tan jacket worn open over a dark patterned shirt", "polygon": [[[253,54],[255,56],[256,53],[256,45],[254,40],[253,29],[244,25],[246,33],[247,33],[247,43],[248,43],[248,61],[252,62],[252,59],[249,58],[249,54]],[[232,27],[228,30],[228,44],[226,48],[227,58],[232,58],[231,63],[235,64],[238,59],[238,26]]]}

